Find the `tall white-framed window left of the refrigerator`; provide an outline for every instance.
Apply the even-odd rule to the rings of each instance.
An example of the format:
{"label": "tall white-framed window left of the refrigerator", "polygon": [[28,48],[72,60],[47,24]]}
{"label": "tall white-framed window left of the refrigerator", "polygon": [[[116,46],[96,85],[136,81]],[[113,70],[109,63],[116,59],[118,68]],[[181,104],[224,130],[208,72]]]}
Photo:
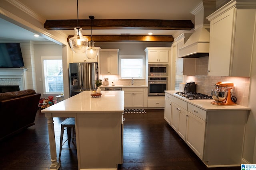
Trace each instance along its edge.
{"label": "tall white-framed window left of the refrigerator", "polygon": [[44,93],[63,93],[63,71],[61,56],[42,56]]}

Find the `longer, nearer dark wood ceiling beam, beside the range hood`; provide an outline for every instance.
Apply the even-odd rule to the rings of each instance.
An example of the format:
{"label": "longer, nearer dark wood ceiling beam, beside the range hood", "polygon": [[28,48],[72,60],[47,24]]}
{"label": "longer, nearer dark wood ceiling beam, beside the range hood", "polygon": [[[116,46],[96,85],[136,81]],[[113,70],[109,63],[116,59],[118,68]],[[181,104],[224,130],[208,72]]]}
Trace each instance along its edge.
{"label": "longer, nearer dark wood ceiling beam, beside the range hood", "polygon": [[[77,20],[46,20],[44,28],[48,30],[72,30]],[[79,27],[91,29],[91,20],[79,20]],[[190,20],[93,20],[92,29],[165,29],[191,30],[194,24]]]}

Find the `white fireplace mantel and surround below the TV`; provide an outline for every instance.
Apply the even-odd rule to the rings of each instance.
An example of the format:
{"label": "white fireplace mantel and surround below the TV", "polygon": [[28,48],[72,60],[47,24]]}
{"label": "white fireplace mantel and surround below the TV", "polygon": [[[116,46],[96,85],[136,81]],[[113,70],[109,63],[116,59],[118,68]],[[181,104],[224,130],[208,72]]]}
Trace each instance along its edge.
{"label": "white fireplace mantel and surround below the TV", "polygon": [[27,89],[27,71],[28,68],[0,68],[0,85],[18,85],[20,90]]}

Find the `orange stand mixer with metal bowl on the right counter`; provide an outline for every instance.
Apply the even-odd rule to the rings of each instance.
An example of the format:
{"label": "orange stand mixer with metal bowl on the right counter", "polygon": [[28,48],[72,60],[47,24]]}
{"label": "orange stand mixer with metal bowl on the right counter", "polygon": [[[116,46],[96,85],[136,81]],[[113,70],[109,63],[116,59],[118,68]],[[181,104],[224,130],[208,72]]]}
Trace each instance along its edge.
{"label": "orange stand mixer with metal bowl on the right counter", "polygon": [[215,89],[212,90],[212,98],[215,100],[211,102],[214,105],[232,106],[236,105],[236,97],[231,96],[230,90],[234,88],[232,82],[217,82]]}

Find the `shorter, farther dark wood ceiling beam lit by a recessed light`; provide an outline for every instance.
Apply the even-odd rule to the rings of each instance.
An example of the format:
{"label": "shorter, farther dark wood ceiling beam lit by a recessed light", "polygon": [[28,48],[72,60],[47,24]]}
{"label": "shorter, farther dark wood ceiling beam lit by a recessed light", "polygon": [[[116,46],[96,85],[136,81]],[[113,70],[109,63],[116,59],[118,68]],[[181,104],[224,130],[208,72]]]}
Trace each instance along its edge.
{"label": "shorter, farther dark wood ceiling beam lit by a recessed light", "polygon": [[[68,36],[68,42],[71,37]],[[85,36],[89,41],[90,35]],[[120,41],[144,41],[144,42],[173,42],[172,35],[93,35],[92,40],[95,42],[120,42]]]}

